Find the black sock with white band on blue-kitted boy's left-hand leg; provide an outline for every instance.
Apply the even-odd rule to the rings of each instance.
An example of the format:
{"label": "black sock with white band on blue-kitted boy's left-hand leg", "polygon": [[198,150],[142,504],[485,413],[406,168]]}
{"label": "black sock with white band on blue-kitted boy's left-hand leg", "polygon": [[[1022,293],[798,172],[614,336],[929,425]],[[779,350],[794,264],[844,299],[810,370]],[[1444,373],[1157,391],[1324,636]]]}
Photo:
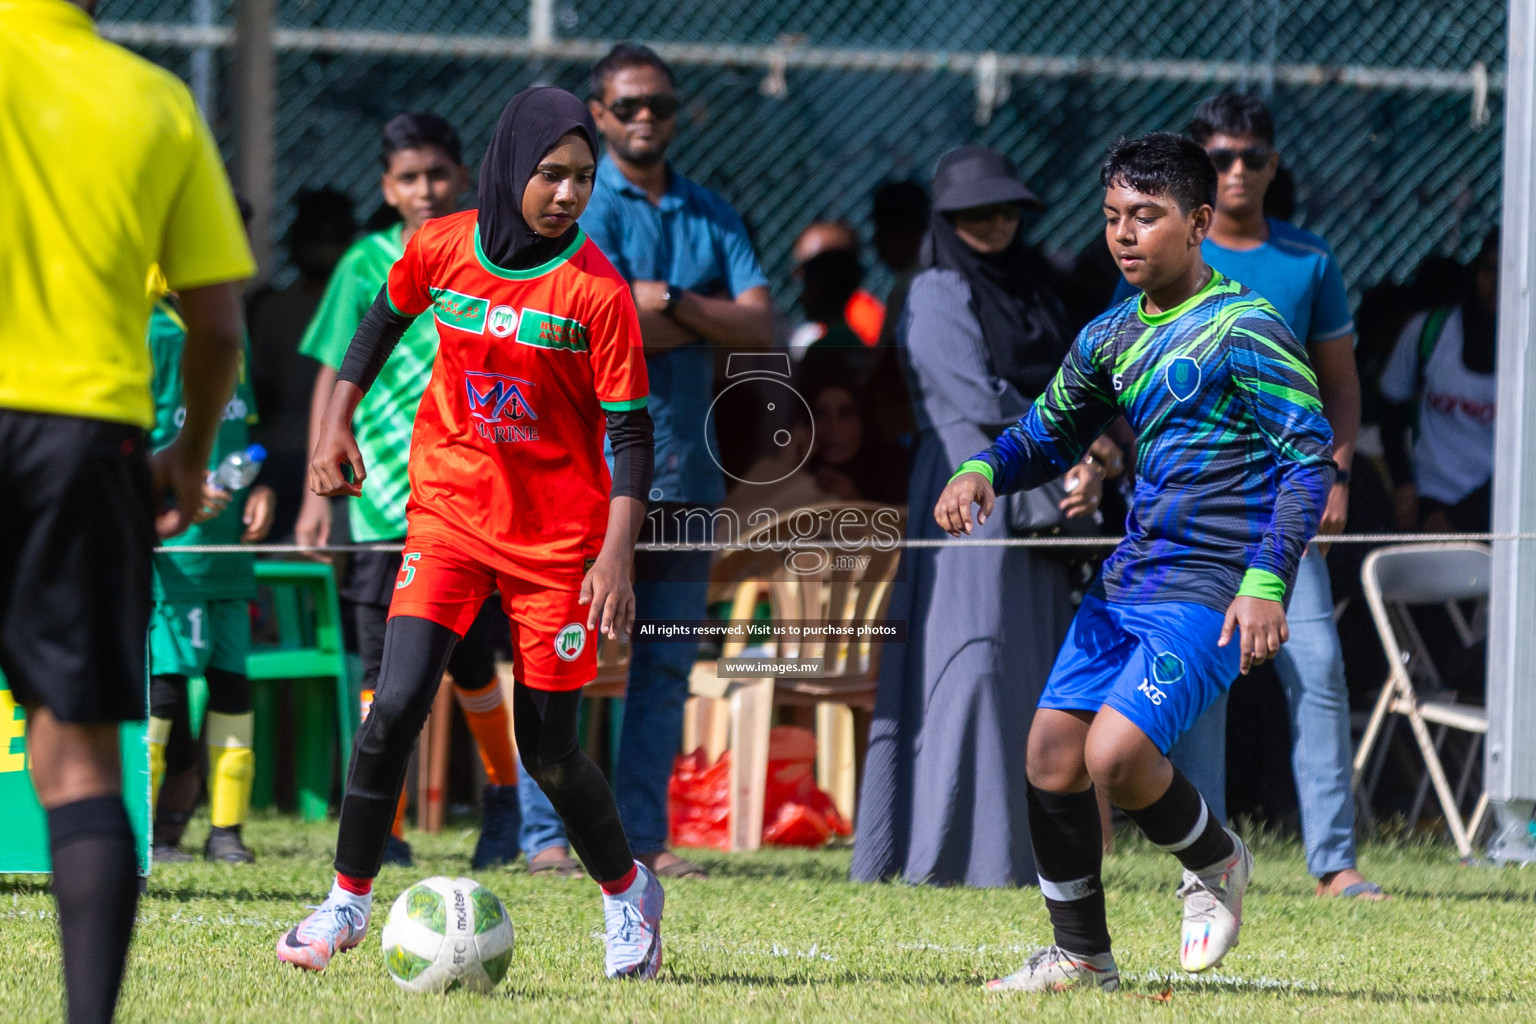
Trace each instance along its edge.
{"label": "black sock with white band on blue-kitted boy's left-hand leg", "polygon": [[1029,841],[1055,944],[1094,956],[1109,952],[1104,917],[1104,835],[1094,788],[1048,792],[1029,786]]}

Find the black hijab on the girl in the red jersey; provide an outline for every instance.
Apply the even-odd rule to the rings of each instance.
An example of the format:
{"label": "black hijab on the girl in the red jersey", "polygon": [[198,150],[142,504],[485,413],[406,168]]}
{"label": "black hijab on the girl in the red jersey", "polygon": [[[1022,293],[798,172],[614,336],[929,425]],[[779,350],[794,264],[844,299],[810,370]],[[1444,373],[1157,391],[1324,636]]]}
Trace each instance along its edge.
{"label": "black hijab on the girl in the red jersey", "polygon": [[581,132],[596,158],[598,126],[587,104],[564,89],[524,89],[502,109],[481,163],[478,218],[481,249],[498,267],[536,267],[576,238],[576,224],[559,238],[545,238],[522,220],[522,193],[533,172],[568,132]]}

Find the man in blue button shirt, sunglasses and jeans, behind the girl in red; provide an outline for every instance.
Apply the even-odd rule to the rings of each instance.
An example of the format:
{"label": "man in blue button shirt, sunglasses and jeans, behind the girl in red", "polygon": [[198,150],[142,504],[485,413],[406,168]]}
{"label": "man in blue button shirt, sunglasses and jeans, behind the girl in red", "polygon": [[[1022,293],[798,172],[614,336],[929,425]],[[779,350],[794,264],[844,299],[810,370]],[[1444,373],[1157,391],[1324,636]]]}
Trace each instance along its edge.
{"label": "man in blue button shirt, sunglasses and jeans, behind the girl in red", "polygon": [[[656,479],[641,540],[680,540],[685,524],[687,539],[702,540],[708,513],[725,497],[710,454],[719,450],[708,415],[714,347],[773,344],[768,279],[736,210],[667,163],[677,91],[660,57],[645,46],[614,46],[591,69],[588,106],[608,146],[581,224],[630,281],[651,384]],[[634,602],[645,619],[702,619],[708,580],[708,551],[634,556]],[[630,646],[613,785],[634,855],[662,878],[703,875],[667,849],[667,781],[696,656],[690,643]],[[525,851],[564,843],[558,817],[524,815]]]}

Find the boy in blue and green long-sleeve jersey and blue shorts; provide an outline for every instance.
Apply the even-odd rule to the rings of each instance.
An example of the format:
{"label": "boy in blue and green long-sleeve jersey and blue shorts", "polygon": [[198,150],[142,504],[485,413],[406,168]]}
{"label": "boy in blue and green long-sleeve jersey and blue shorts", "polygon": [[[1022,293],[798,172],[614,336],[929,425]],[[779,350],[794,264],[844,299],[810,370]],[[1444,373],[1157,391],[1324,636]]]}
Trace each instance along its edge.
{"label": "boy in blue and green long-sleeve jersey and blue shorts", "polygon": [[[1206,266],[1217,173],[1170,132],[1101,170],[1106,241],[1143,290],[1078,335],[1055,381],[965,462],[934,516],[1058,477],[1124,416],[1140,439],[1126,539],[1084,597],[1029,732],[1029,829],[1055,943],[994,990],[1114,989],[1094,786],[1184,866],[1186,970],[1238,941],[1253,858],[1167,760],[1238,672],[1286,642],[1284,602],[1333,482],[1333,436],[1286,321]],[[1232,643],[1236,637],[1236,643]]]}

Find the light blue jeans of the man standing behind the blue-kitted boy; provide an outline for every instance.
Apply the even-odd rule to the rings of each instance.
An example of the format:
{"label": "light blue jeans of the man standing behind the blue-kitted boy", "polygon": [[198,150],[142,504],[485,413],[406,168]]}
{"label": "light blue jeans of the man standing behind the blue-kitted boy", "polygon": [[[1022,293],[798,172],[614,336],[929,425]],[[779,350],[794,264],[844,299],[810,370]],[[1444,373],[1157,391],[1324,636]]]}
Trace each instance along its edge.
{"label": "light blue jeans of the man standing behind the blue-kitted boy", "polygon": [[[1321,878],[1355,867],[1355,763],[1333,591],[1327,562],[1315,547],[1307,548],[1296,570],[1286,622],[1290,640],[1279,648],[1275,668],[1290,705],[1290,769],[1301,804],[1307,870]],[[1223,697],[1169,754],[1223,821],[1227,820],[1226,731]]]}

